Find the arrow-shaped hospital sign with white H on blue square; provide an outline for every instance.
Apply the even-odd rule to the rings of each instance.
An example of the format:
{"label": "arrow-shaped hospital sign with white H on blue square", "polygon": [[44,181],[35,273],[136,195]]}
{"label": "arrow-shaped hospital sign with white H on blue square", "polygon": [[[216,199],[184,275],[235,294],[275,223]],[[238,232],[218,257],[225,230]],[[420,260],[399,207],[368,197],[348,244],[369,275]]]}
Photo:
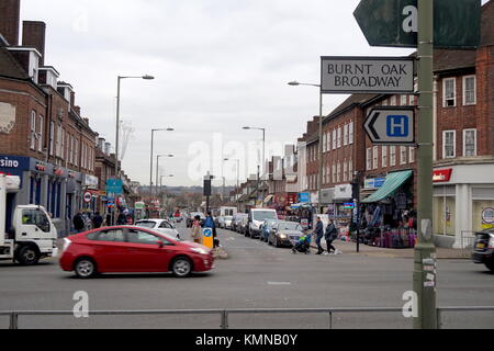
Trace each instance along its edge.
{"label": "arrow-shaped hospital sign with white H on blue square", "polygon": [[363,127],[373,144],[414,145],[414,117],[413,107],[372,109]]}

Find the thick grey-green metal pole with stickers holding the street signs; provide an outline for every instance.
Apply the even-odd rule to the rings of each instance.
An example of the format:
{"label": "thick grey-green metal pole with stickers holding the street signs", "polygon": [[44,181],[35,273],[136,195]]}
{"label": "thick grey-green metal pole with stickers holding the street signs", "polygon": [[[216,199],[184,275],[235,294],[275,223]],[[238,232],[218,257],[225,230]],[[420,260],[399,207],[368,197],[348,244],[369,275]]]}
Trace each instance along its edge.
{"label": "thick grey-green metal pole with stickers holding the street signs", "polygon": [[[436,329],[436,247],[433,241],[433,53],[434,0],[418,0],[417,213],[414,291],[418,297],[415,329]],[[427,265],[426,271],[424,267]]]}

